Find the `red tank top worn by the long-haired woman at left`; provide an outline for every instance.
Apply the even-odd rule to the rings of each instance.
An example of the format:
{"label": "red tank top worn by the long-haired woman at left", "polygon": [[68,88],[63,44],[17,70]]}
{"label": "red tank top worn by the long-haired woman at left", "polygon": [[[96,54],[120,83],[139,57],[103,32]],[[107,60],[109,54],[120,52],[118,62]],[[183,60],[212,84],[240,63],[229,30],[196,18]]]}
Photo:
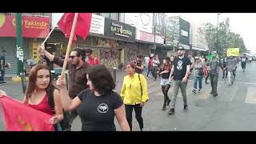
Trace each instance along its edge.
{"label": "red tank top worn by the long-haired woman at left", "polygon": [[38,105],[31,105],[29,103],[26,104],[27,106],[30,106],[36,110],[40,110],[46,114],[54,115],[51,111],[51,107],[48,103],[48,94],[45,95],[45,97],[42,99],[42,101]]}

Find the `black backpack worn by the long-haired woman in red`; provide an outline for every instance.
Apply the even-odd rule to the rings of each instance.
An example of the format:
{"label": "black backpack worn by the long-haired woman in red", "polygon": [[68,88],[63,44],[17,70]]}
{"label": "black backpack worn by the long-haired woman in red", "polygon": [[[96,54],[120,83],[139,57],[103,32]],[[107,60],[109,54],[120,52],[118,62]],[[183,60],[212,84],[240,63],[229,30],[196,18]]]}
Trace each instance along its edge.
{"label": "black backpack worn by the long-haired woman in red", "polygon": [[[47,91],[48,94],[48,103],[51,107],[53,114],[55,114],[54,110],[54,88],[53,90]],[[58,90],[58,89],[57,89]],[[69,121],[69,112],[63,110],[63,120],[60,122],[60,126],[62,127],[62,131],[69,131],[70,130],[70,121]],[[57,130],[57,125],[54,125],[55,130]]]}

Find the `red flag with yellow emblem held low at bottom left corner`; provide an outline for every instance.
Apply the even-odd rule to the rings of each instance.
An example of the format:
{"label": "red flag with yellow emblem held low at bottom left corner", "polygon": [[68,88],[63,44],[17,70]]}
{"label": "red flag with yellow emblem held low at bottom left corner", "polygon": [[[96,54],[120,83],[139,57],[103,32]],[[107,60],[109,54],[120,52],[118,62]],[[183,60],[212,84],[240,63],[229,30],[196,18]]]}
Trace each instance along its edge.
{"label": "red flag with yellow emblem held low at bottom left corner", "polygon": [[0,102],[7,131],[54,131],[49,114],[7,96],[1,97]]}

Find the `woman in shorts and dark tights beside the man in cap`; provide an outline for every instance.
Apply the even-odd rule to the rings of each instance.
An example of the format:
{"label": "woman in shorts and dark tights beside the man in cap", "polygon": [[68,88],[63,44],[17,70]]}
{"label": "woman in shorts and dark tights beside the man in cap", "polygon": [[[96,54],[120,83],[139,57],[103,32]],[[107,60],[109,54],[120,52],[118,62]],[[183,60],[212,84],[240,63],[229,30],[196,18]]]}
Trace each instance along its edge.
{"label": "woman in shorts and dark tights beside the man in cap", "polygon": [[162,75],[160,85],[162,86],[162,94],[164,96],[163,98],[163,105],[162,110],[166,110],[166,106],[169,106],[170,104],[170,98],[168,97],[168,91],[170,89],[170,69],[172,65],[170,64],[170,58],[166,57],[162,59],[162,66],[160,68],[159,75]]}

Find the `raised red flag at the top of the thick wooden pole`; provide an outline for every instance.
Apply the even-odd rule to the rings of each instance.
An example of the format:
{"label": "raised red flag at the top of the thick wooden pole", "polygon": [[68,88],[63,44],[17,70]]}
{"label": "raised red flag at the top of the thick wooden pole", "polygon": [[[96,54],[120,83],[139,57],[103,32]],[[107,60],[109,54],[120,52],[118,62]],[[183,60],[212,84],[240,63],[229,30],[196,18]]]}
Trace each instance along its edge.
{"label": "raised red flag at the top of the thick wooden pole", "polygon": [[[65,34],[66,38],[70,38],[73,21],[74,13],[65,13],[58,22],[58,27]],[[74,38],[72,42],[77,41],[76,35],[86,39],[87,35],[90,33],[90,22],[91,13],[78,13],[77,25],[75,26]]]}

